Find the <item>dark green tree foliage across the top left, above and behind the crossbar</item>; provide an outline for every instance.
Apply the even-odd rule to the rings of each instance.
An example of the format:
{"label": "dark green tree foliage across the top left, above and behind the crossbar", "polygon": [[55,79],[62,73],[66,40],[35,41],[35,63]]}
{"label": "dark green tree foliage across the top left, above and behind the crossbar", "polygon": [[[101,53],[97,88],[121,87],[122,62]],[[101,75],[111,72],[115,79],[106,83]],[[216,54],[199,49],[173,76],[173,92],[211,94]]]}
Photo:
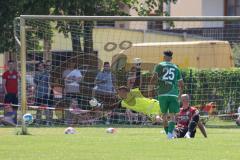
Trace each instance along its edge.
{"label": "dark green tree foliage across the top left, above and behind the crossbar", "polygon": [[[35,15],[84,15],[84,16],[114,16],[127,15],[122,8],[135,9],[139,15],[149,15],[154,9],[156,15],[169,15],[163,11],[163,4],[176,2],[176,0],[10,0],[0,1],[0,52],[14,49],[13,19],[21,14]],[[49,24],[46,24],[49,25]],[[73,27],[77,28],[73,28]],[[67,35],[71,30],[77,29],[78,33],[71,33],[73,50],[92,52],[93,42],[91,40],[93,23],[81,22],[59,22],[57,29]],[[41,28],[39,28],[40,30]],[[34,40],[51,40],[49,26],[44,26],[44,31],[50,33],[48,37],[39,34]],[[43,33],[43,32],[42,32]],[[83,43],[80,43],[83,37]],[[83,47],[81,46],[83,44]],[[31,44],[30,44],[31,45]]]}

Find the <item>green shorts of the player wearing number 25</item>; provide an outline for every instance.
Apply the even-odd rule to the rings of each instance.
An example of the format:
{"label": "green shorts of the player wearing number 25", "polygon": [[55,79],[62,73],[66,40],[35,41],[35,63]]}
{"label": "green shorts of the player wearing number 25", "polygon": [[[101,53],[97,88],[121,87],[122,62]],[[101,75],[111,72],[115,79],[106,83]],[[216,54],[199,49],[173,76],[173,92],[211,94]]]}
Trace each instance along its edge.
{"label": "green shorts of the player wearing number 25", "polygon": [[178,113],[180,104],[175,96],[158,96],[162,113]]}

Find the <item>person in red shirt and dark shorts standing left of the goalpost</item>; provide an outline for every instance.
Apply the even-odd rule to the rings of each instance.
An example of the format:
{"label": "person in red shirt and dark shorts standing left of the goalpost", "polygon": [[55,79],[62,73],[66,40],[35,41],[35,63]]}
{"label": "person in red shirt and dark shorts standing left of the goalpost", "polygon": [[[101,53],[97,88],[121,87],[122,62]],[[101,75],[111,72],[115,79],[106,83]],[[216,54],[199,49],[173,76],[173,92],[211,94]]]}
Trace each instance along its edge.
{"label": "person in red shirt and dark shorts standing left of the goalpost", "polygon": [[12,112],[5,112],[5,116],[12,116],[13,121],[17,123],[17,110],[18,110],[18,78],[19,74],[16,71],[15,62],[12,60],[8,61],[8,70],[2,75],[3,78],[3,88],[5,92],[4,103],[5,104],[15,104],[12,105]]}

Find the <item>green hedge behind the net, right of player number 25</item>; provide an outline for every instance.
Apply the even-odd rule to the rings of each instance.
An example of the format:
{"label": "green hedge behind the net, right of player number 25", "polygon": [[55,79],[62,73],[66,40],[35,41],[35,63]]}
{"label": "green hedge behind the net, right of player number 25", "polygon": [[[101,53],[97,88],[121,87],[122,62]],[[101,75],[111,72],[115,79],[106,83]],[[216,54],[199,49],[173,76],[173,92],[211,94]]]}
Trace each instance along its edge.
{"label": "green hedge behind the net, right of player number 25", "polygon": [[240,69],[182,70],[185,83],[184,93],[191,95],[193,105],[216,102],[217,109],[226,109],[234,102],[236,109],[240,99]]}

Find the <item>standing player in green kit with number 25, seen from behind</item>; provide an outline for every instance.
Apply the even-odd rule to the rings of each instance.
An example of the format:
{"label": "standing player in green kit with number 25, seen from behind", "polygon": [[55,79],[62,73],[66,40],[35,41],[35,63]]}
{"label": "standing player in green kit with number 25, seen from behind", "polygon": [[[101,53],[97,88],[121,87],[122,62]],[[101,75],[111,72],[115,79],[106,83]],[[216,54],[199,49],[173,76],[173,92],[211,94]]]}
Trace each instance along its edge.
{"label": "standing player in green kit with number 25, seen from behind", "polygon": [[[158,96],[163,113],[163,126],[169,139],[173,138],[175,128],[175,115],[179,112],[180,96],[183,91],[183,79],[179,68],[171,63],[172,51],[164,51],[163,62],[154,68],[154,73],[150,81],[150,90],[154,90],[157,84]],[[151,95],[150,95],[151,97]]]}

